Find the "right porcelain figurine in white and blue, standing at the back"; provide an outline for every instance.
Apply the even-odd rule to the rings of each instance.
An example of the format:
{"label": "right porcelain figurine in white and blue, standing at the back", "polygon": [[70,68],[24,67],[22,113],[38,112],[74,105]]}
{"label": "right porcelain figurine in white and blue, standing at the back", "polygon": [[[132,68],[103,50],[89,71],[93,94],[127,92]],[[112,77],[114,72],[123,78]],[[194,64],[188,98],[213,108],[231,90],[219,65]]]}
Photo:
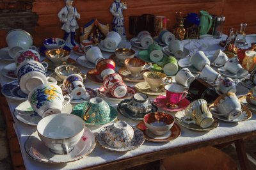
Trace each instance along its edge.
{"label": "right porcelain figurine in white and blue, standing at the back", "polygon": [[123,10],[127,9],[126,3],[121,3],[121,0],[115,0],[111,5],[109,12],[114,16],[113,19],[113,31],[119,33],[121,37],[126,36],[124,28],[124,15]]}

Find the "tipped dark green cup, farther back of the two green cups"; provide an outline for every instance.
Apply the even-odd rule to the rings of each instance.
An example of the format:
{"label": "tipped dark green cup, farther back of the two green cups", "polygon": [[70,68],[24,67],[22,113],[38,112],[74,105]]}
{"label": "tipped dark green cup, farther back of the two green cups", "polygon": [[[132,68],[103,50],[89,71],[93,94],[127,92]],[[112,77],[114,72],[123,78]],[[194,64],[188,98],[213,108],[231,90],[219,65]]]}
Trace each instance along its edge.
{"label": "tipped dark green cup, farther back of the two green cups", "polygon": [[153,62],[161,61],[161,59],[163,59],[164,57],[162,49],[157,43],[152,43],[151,45],[149,45],[148,54],[150,60]]}

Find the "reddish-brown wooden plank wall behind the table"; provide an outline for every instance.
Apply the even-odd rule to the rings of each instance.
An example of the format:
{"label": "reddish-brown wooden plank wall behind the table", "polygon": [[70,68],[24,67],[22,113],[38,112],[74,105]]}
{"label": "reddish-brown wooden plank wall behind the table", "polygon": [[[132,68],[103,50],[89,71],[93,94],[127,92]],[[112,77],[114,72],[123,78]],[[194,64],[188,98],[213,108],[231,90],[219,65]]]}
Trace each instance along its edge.
{"label": "reddish-brown wooden plank wall behind the table", "polygon": [[[79,26],[97,18],[100,22],[111,23],[112,15],[109,6],[113,0],[75,0],[74,6],[81,14]],[[152,13],[168,17],[168,29],[175,24],[175,12],[196,12],[206,10],[211,14],[224,15],[226,17],[225,30],[230,27],[239,27],[241,22],[248,23],[246,33],[256,33],[255,1],[251,0],[129,0],[126,1],[127,10],[124,11],[125,27],[129,26],[129,15],[141,15]],[[33,12],[38,14],[38,26],[32,33],[35,45],[42,45],[42,41],[48,37],[62,37],[60,22],[57,13],[65,5],[63,0],[35,0]],[[80,29],[79,29],[80,32]],[[77,34],[79,34],[77,32]],[[0,36],[5,37],[6,31],[0,31]],[[78,36],[77,36],[78,38]],[[5,38],[1,38],[0,46],[5,45]]]}

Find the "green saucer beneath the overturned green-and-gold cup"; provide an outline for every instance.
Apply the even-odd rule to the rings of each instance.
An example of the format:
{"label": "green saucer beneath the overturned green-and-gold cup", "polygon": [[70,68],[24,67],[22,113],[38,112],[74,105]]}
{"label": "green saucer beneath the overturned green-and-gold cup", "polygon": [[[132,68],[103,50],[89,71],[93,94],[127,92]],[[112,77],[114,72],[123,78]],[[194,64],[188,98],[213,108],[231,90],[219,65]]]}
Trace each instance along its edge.
{"label": "green saucer beneath the overturned green-and-gold cup", "polygon": [[[83,119],[84,110],[86,111],[89,106],[90,106],[89,102],[84,102],[84,103],[81,103],[81,104],[77,104],[74,107],[72,114],[75,114],[76,116],[79,116],[80,118]],[[84,121],[84,124],[85,125],[98,126],[98,125],[106,125],[107,123],[111,123],[111,122],[115,121],[116,118],[117,118],[118,112],[111,105],[109,105],[109,107],[110,107],[110,115],[109,115],[109,120],[108,121],[102,121],[100,123],[88,123],[88,122]]]}

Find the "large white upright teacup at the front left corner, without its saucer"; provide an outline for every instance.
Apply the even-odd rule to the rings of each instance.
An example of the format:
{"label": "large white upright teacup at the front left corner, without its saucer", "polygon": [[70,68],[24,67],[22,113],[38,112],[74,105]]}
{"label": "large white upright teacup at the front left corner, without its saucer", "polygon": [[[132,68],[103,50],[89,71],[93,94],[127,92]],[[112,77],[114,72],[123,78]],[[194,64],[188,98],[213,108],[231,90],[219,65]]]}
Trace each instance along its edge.
{"label": "large white upright teacup at the front left corner, without its saucer", "polygon": [[40,120],[36,129],[52,153],[67,155],[81,139],[84,121],[74,114],[59,113]]}

